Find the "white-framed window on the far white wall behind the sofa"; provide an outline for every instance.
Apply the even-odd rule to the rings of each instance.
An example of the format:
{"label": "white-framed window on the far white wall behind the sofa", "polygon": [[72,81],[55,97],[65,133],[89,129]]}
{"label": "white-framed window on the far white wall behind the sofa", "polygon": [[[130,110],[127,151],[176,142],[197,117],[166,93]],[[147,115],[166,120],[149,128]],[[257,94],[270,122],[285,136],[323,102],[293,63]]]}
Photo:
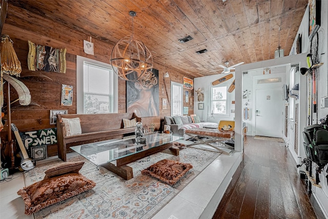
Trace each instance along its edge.
{"label": "white-framed window on the far white wall behind the sofa", "polygon": [[211,110],[214,115],[229,114],[227,85],[211,87]]}

